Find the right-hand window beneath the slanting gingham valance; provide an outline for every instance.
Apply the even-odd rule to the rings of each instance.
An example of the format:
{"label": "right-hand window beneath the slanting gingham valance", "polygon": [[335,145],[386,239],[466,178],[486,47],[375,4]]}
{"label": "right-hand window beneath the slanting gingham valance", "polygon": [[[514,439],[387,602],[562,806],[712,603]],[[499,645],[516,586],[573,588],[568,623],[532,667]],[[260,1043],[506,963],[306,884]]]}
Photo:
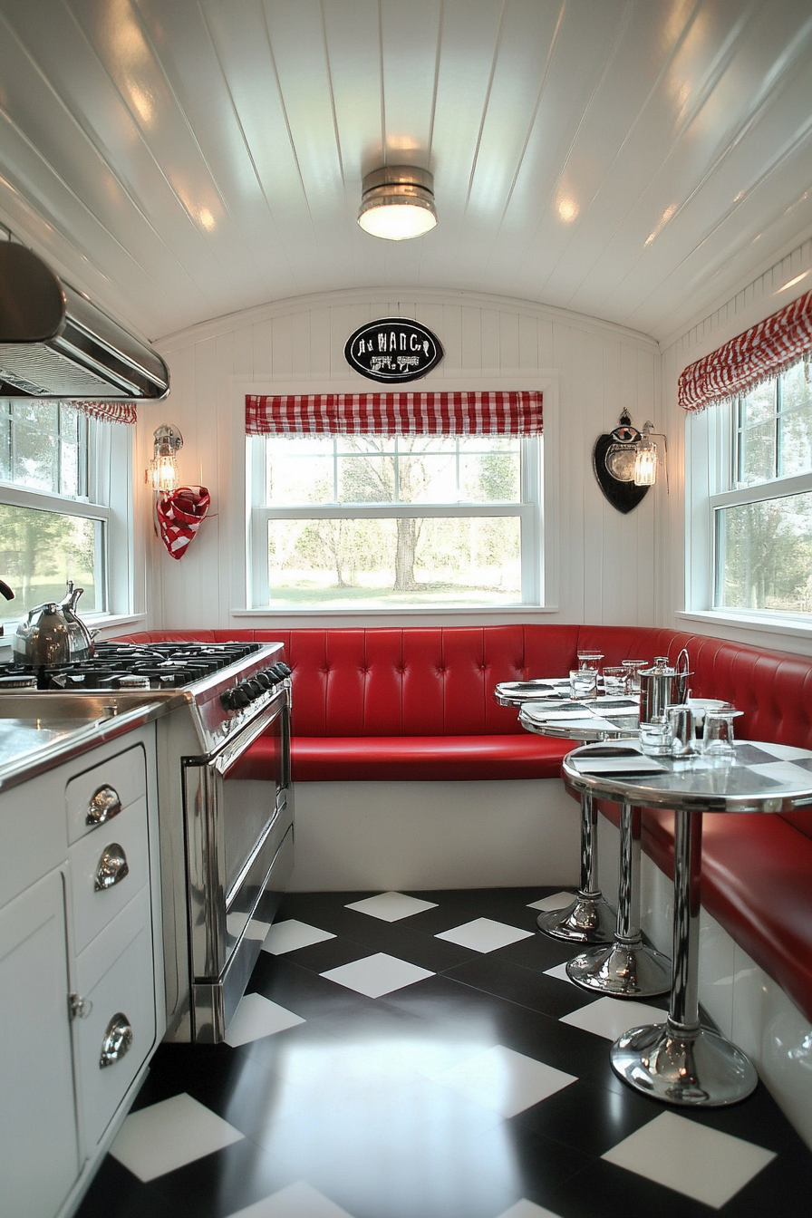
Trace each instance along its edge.
{"label": "right-hand window beneath the slanting gingham valance", "polygon": [[812,613],[812,384],[808,364],[710,414],[712,605]]}

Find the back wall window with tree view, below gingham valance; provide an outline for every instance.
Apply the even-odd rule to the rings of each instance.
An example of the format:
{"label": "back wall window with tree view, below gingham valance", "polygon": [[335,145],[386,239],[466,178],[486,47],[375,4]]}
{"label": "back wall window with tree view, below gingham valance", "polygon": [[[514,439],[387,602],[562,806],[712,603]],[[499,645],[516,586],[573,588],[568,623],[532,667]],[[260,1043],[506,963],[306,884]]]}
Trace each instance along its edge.
{"label": "back wall window with tree view, below gingham valance", "polygon": [[254,607],[538,603],[541,436],[248,438]]}

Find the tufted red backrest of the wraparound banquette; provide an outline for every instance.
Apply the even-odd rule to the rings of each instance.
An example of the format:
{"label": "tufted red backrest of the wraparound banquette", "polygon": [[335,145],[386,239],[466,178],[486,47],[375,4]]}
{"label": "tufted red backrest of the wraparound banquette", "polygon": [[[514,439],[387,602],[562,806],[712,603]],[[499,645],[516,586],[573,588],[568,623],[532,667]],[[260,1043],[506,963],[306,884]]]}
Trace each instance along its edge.
{"label": "tufted red backrest of the wraparound banquette", "polygon": [[[812,748],[812,658],[645,626],[447,626],[364,630],[141,631],[130,642],[281,642],[293,670],[298,736],[470,736],[521,732],[498,706],[499,681],[564,676],[579,648],[605,664],[688,648],[696,697],[744,711],[740,738]],[[805,814],[799,817],[799,827]],[[802,829],[803,832],[806,829]]]}

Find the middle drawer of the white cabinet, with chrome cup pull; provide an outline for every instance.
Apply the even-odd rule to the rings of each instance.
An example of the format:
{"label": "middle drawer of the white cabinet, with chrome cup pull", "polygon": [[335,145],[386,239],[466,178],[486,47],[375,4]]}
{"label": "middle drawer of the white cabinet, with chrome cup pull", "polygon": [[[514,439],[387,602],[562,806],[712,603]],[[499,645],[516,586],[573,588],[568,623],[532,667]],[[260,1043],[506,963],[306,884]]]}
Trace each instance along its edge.
{"label": "middle drawer of the white cabinet, with chrome cup pull", "polygon": [[[150,878],[146,799],[136,800],[107,825],[86,833],[68,854],[73,934],[79,952]],[[100,887],[105,884],[108,887]]]}

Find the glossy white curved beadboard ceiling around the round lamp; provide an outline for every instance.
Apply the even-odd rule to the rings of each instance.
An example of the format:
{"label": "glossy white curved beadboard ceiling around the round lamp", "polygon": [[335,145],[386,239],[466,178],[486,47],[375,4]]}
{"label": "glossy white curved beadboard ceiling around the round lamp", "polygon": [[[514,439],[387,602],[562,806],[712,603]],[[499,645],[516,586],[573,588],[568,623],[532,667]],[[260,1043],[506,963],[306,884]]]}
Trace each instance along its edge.
{"label": "glossy white curved beadboard ceiling around the round lamp", "polygon": [[[431,234],[358,228],[385,162]],[[662,340],[812,227],[812,4],[0,0],[0,219],[150,339],[432,287]]]}

